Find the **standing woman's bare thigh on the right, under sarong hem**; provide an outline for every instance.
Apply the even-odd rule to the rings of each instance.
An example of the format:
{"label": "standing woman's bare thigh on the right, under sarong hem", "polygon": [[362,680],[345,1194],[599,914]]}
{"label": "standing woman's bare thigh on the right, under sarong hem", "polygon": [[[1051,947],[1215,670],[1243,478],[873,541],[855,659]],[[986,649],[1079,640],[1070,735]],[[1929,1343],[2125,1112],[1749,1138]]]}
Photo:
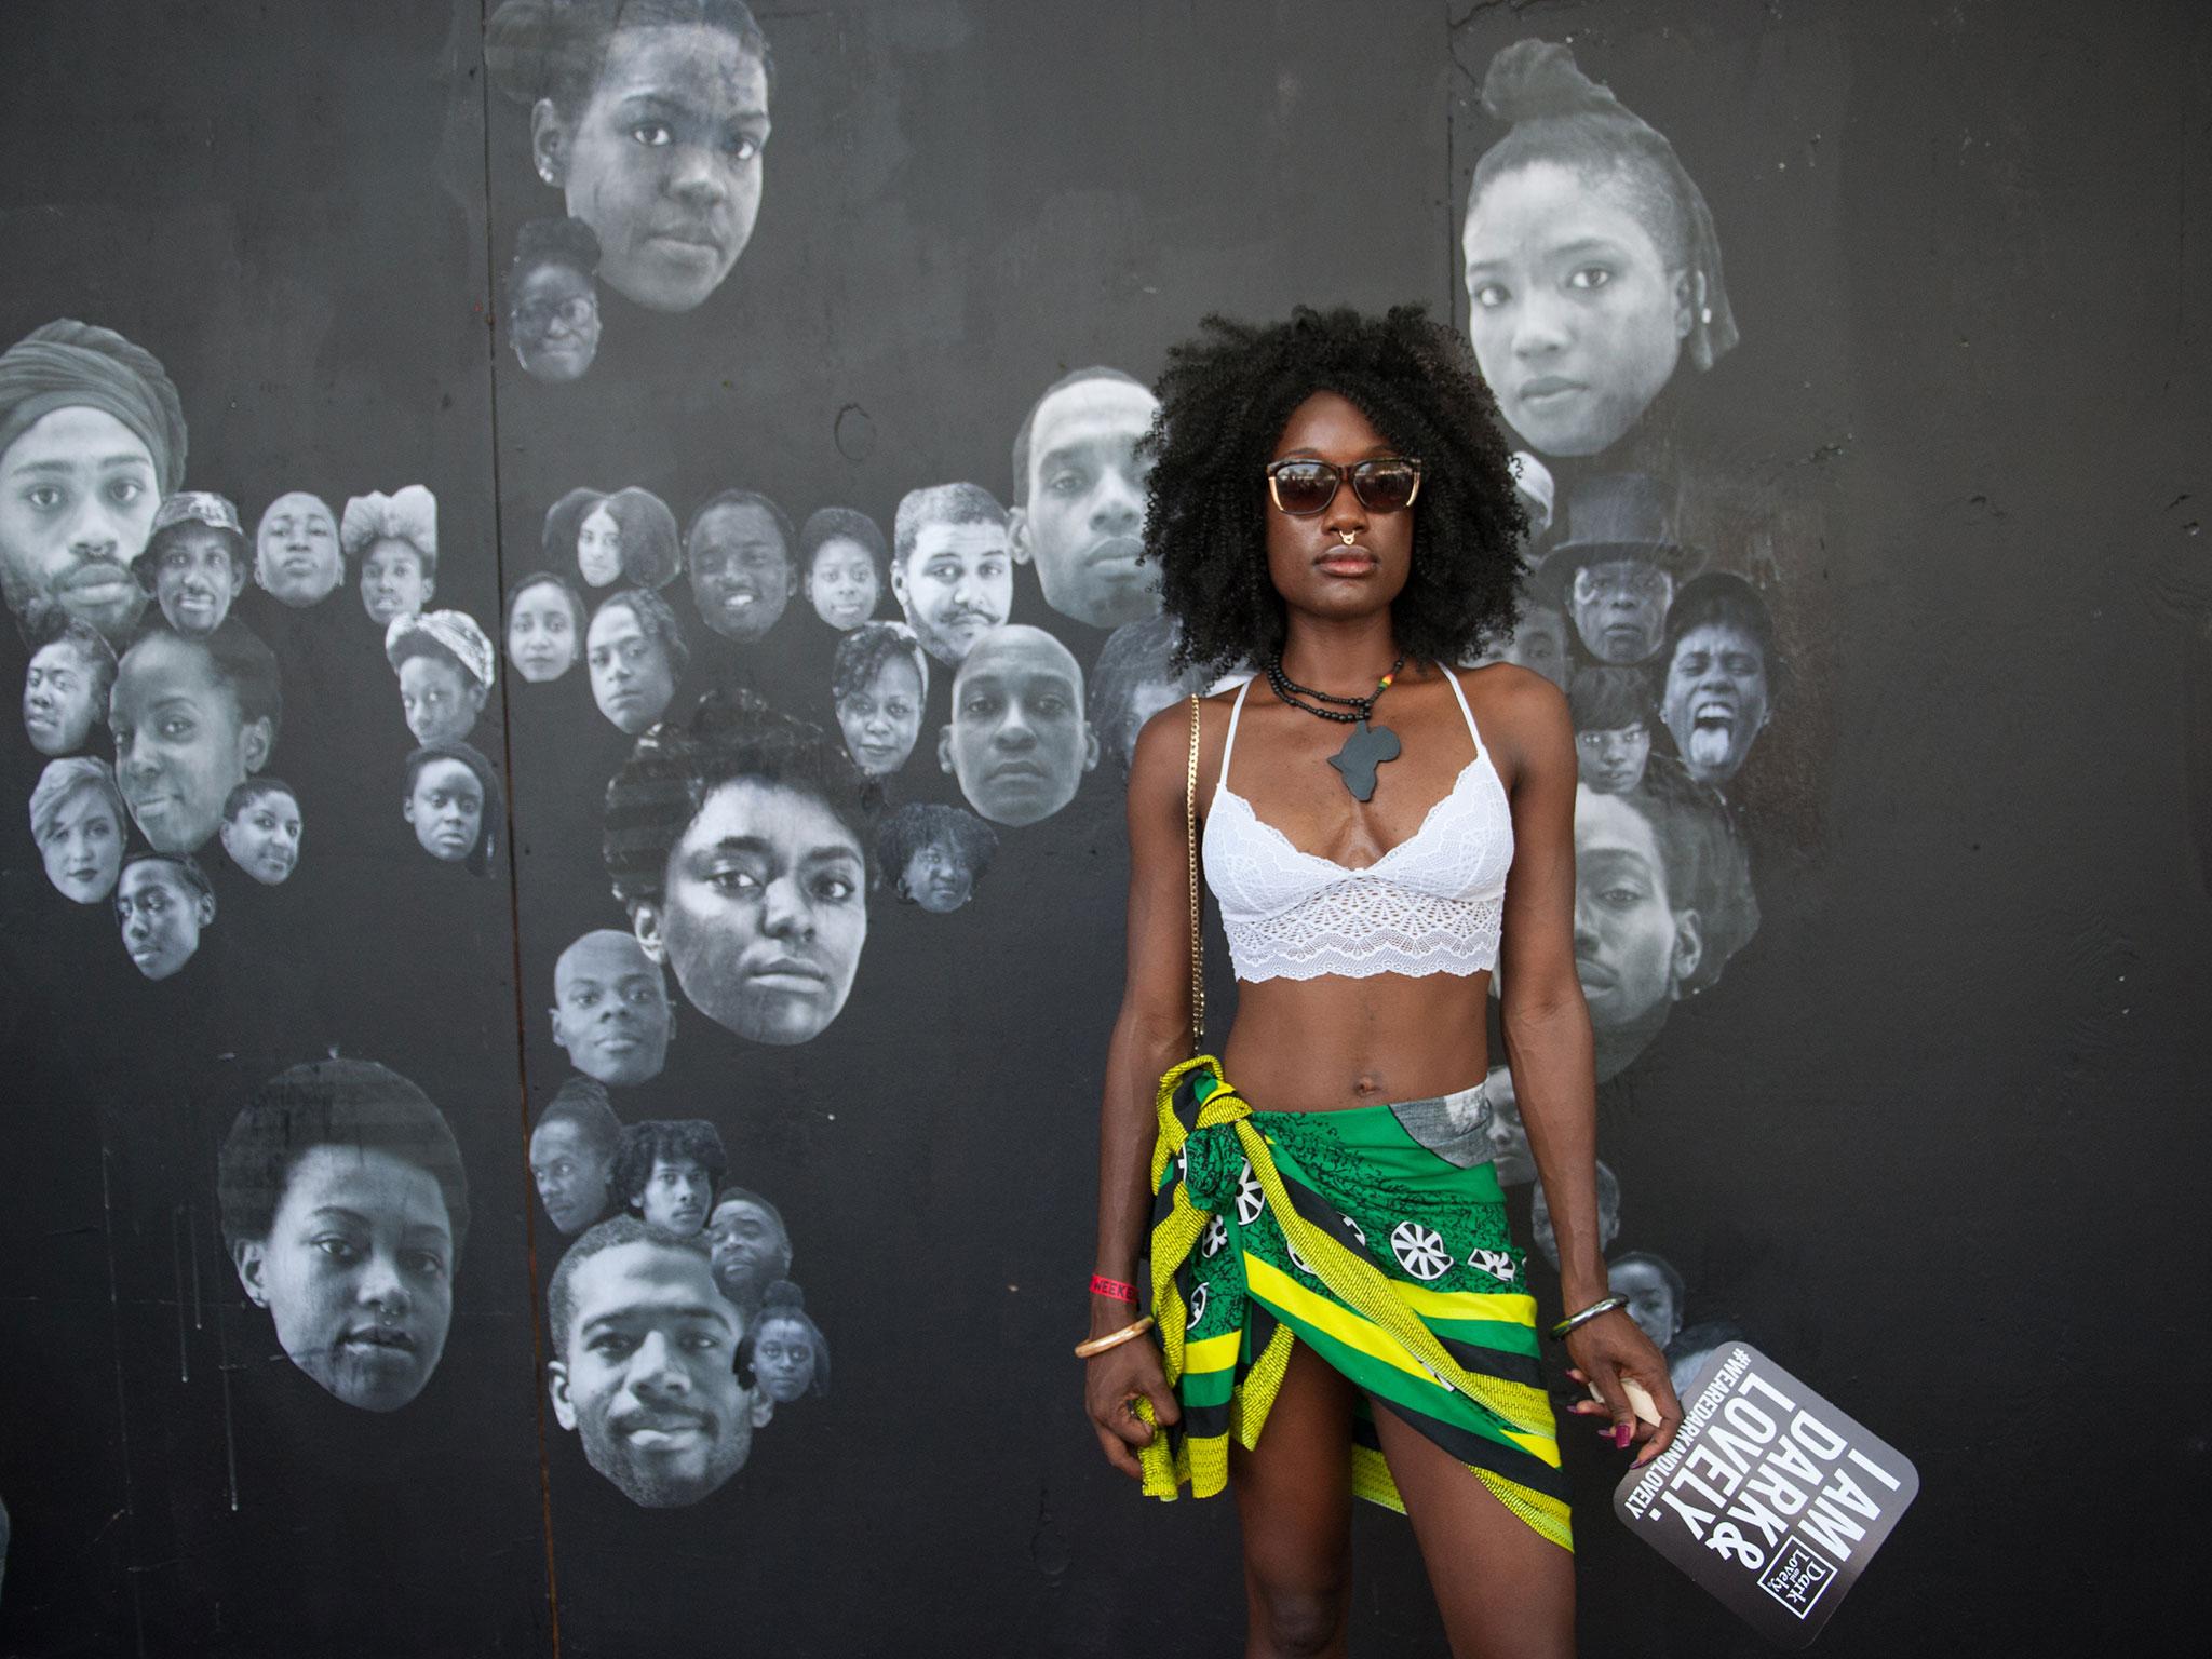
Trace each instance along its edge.
{"label": "standing woman's bare thigh on the right, under sarong hem", "polygon": [[1575,1659],[1575,1557],[1380,1402],[1376,1431],[1453,1659]]}

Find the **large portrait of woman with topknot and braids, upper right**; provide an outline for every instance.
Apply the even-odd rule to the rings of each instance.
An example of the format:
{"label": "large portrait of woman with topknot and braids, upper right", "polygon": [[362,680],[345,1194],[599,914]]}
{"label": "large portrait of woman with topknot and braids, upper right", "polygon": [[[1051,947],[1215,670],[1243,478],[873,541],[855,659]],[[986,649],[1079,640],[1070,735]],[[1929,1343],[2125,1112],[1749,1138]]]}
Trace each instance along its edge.
{"label": "large portrait of woman with topknot and braids, upper right", "polygon": [[1674,146],[1566,46],[1500,51],[1482,108],[1511,124],[1467,195],[1482,378],[1528,449],[1601,453],[1644,418],[1683,352],[1710,369],[1736,343],[1712,215]]}

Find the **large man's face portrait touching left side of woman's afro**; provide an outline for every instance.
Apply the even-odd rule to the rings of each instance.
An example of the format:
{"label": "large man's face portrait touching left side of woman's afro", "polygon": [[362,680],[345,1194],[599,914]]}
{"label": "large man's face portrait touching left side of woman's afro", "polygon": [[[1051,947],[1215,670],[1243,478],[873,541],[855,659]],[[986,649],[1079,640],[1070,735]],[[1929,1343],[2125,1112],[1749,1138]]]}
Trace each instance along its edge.
{"label": "large man's face portrait touching left side of woman's afro", "polygon": [[1144,566],[1139,453],[1159,398],[1121,369],[1062,376],[1013,438],[1009,544],[1037,568],[1044,602],[1093,628],[1159,615],[1159,573]]}

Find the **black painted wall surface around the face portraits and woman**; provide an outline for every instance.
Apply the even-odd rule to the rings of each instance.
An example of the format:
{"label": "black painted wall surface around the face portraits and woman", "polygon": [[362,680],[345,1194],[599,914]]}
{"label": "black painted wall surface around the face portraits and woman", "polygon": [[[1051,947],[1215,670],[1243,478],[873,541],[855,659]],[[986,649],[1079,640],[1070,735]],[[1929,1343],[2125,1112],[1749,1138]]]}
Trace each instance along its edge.
{"label": "black painted wall surface around the face portraits and woman", "polygon": [[[555,197],[473,2],[11,7],[0,338],[75,316],[153,349],[188,482],[248,515],[429,484],[438,604],[491,626],[573,484],[679,518],[741,484],[889,526],[918,484],[1004,498],[1044,385],[1152,378],[1208,310],[1418,299],[1464,323],[1484,64],[1568,40],[1712,206],[1743,343],[1670,420],[1796,668],[1747,807],[1759,933],[1601,1093],[1617,1250],[1666,1254],[1697,1316],[1916,1460],[1829,1650],[2190,1646],[2199,9],[916,0],[761,24],[774,139],[734,276],[686,316],[608,296],[591,374],[542,385],[495,327],[498,272]],[[22,823],[0,836],[0,1652],[1228,1650],[1234,1515],[1141,1504],[1066,1358],[1121,975],[1113,763],[1002,830],[962,911],[878,891],[814,1042],[679,1006],[648,1104],[714,1119],[783,1208],[836,1389],[706,1504],[641,1511],[542,1416],[560,1239],[526,1168],[564,1073],[553,960],[622,927],[597,803],[626,745],[580,677],[502,661],[473,741],[507,765],[515,847],[491,880],[431,865],[352,588],[257,597],[285,664],[274,770],[312,792],[290,883],[223,885],[201,956],[144,982]],[[821,717],[803,611],[752,679]],[[1095,659],[1029,571],[1013,615]],[[35,757],[0,750],[24,801]],[[418,1082],[471,1179],[453,1336],[394,1416],[285,1363],[215,1221],[239,1104],[327,1053]],[[1754,1652],[1606,1513],[1613,1464],[1568,1455],[1584,1650]],[[1354,1646],[1442,1652],[1405,1524],[1363,1515],[1358,1546]]]}

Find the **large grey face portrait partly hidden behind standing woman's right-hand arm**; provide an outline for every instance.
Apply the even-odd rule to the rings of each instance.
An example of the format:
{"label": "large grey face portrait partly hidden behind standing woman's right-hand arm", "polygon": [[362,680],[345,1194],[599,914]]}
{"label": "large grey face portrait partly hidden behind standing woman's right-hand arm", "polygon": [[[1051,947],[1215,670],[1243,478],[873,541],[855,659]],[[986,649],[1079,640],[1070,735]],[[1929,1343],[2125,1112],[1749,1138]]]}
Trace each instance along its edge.
{"label": "large grey face portrait partly hidden behind standing woman's right-hand arm", "polygon": [[1674,1002],[1714,984],[1756,925],[1743,847],[1677,763],[1646,763],[1626,794],[1577,785],[1575,975],[1599,1082],[1644,1053]]}

